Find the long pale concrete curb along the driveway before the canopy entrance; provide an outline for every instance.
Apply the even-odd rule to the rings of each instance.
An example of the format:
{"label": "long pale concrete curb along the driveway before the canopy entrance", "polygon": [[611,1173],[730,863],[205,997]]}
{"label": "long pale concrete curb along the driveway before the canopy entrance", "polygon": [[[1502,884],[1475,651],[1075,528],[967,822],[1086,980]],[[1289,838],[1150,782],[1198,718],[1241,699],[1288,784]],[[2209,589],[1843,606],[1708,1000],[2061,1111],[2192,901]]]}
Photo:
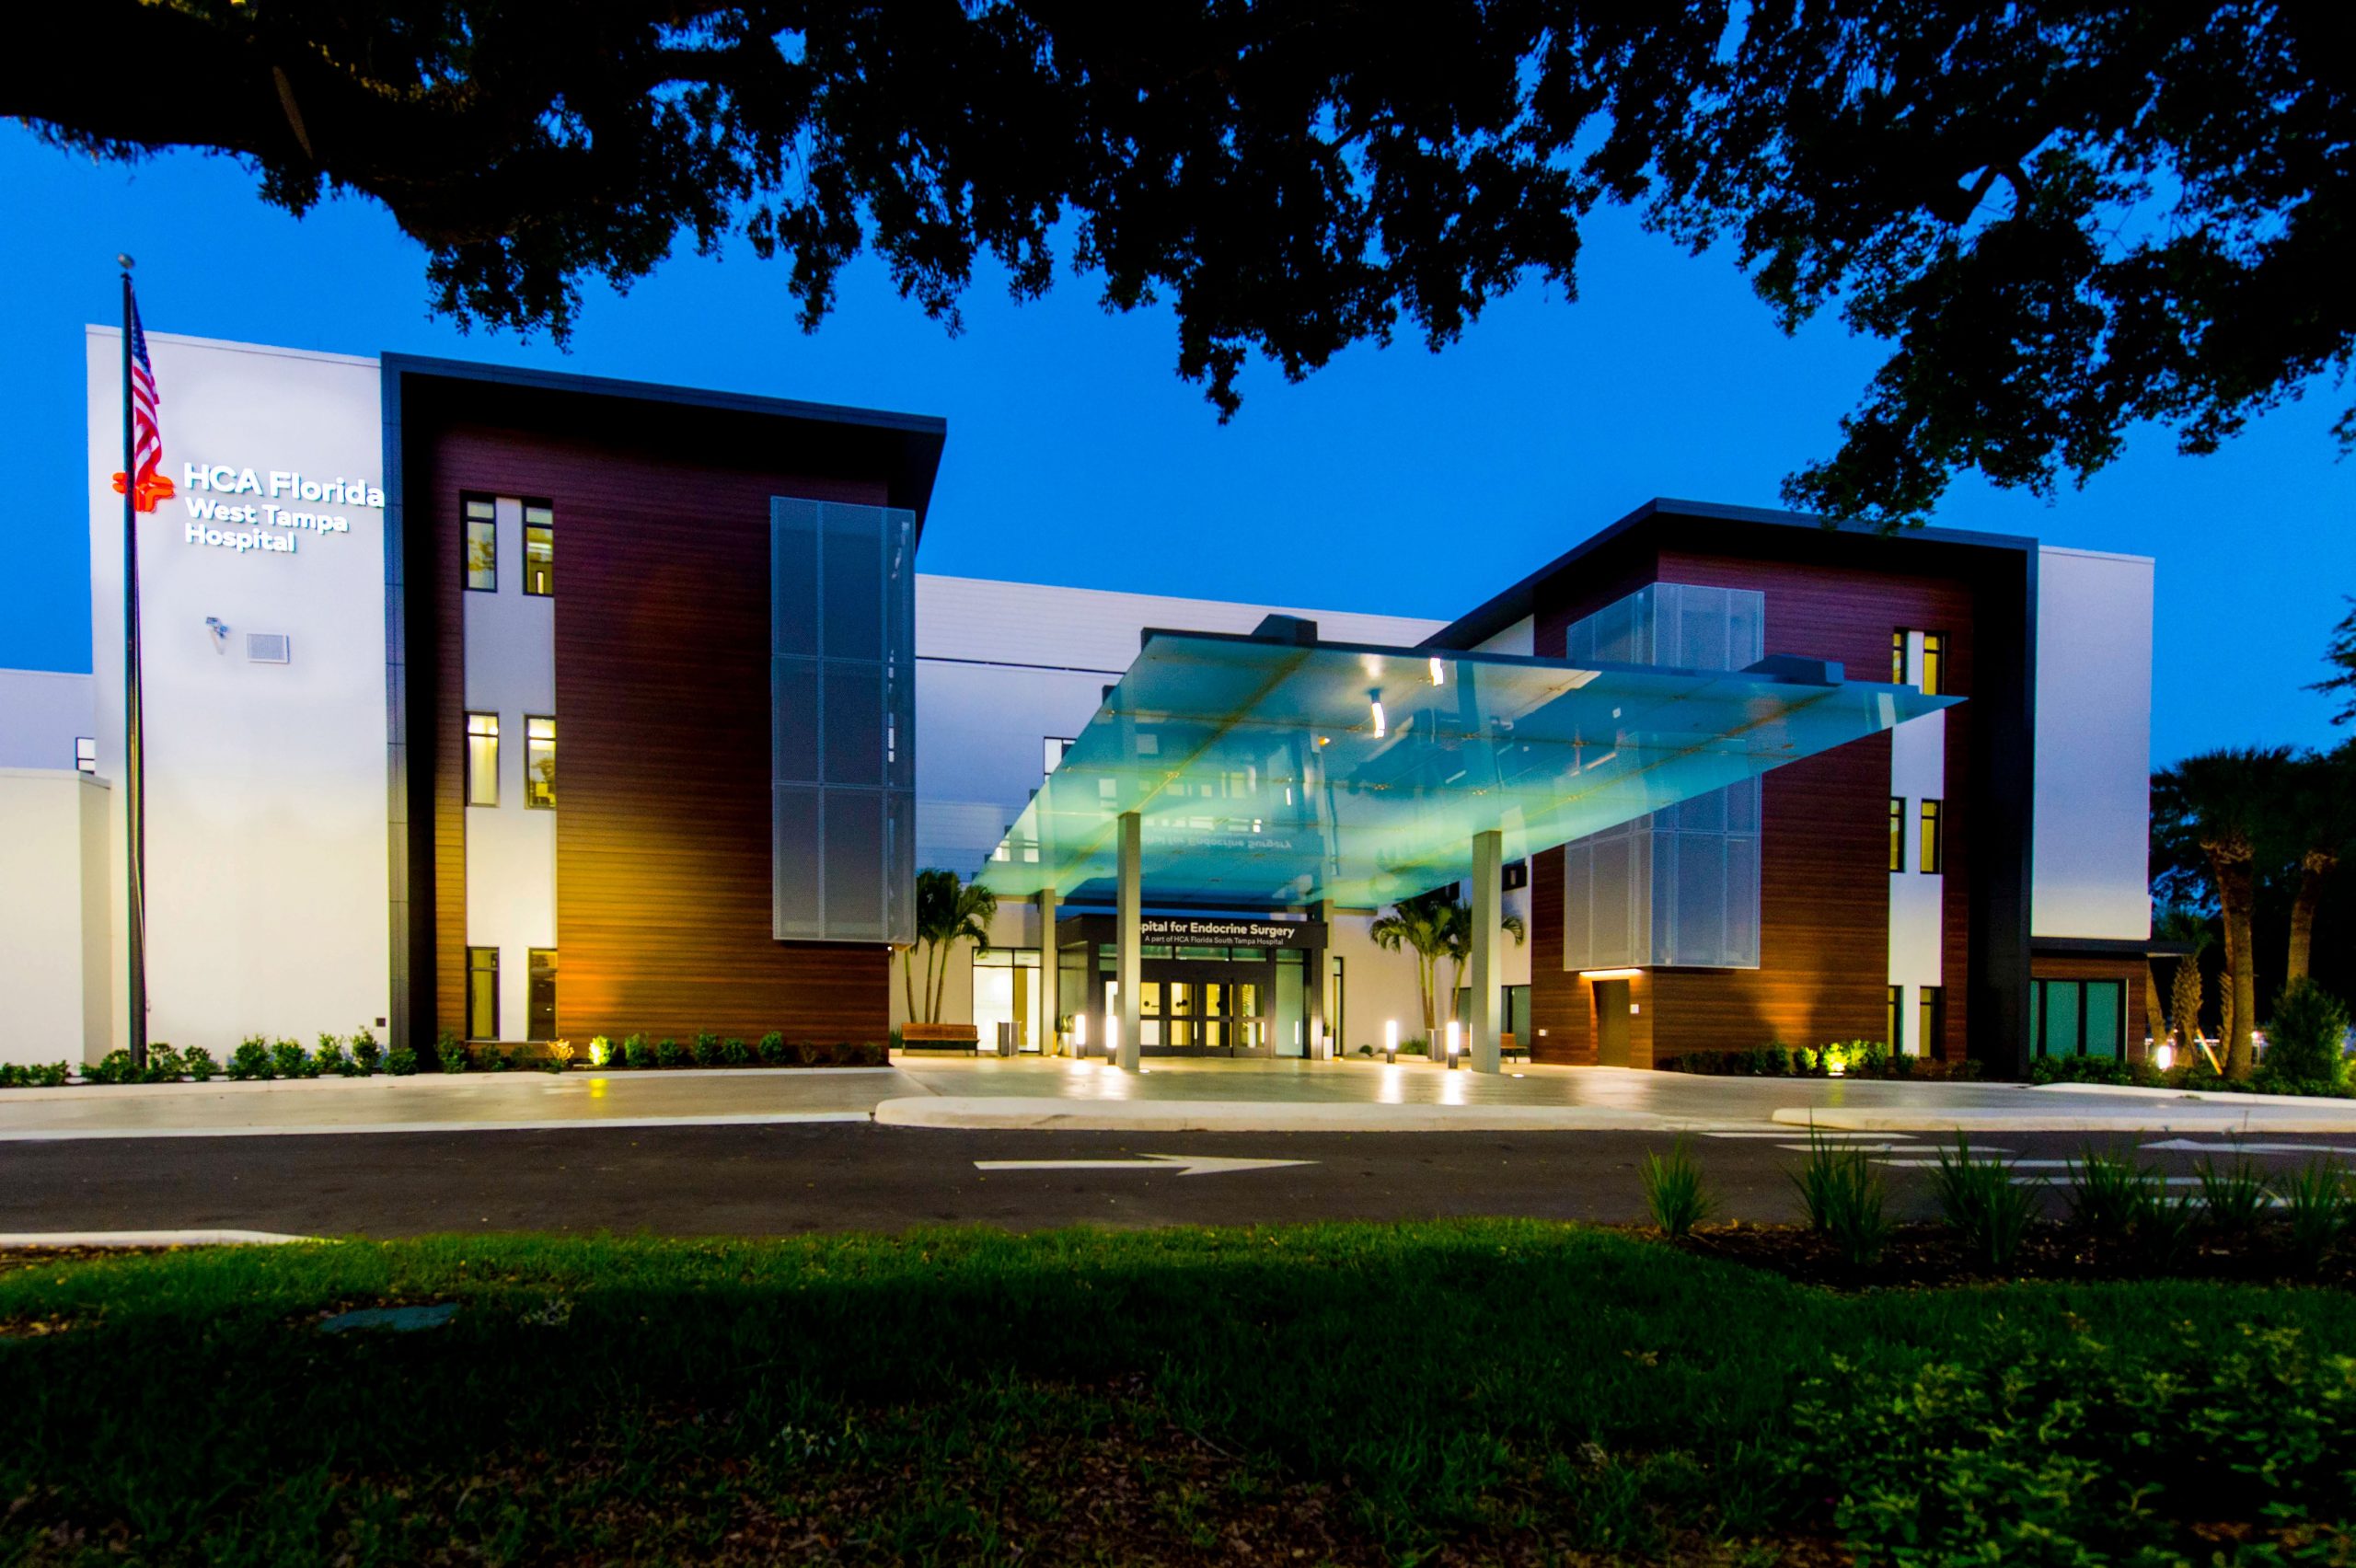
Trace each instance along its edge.
{"label": "long pale concrete curb along the driveway before the canopy entrance", "polygon": [[1046,1099],[933,1095],[886,1099],[884,1128],[1055,1132],[1708,1132],[1758,1121],[1687,1121],[1586,1104],[1364,1104],[1258,1099]]}

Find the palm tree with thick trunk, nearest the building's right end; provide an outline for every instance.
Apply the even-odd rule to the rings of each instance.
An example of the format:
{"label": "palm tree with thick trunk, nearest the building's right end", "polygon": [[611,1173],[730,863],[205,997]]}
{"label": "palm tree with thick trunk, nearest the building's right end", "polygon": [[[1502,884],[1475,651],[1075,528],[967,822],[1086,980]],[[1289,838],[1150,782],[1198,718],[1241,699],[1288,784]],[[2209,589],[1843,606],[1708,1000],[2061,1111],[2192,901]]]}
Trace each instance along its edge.
{"label": "palm tree with thick trunk, nearest the building's right end", "polygon": [[2182,883],[2196,850],[2224,923],[2224,1069],[2231,1078],[2250,1076],[2250,1024],[2257,1019],[2250,906],[2257,855],[2278,822],[2288,768],[2288,746],[2226,746],[2151,777],[2153,850],[2175,862],[2163,881]]}

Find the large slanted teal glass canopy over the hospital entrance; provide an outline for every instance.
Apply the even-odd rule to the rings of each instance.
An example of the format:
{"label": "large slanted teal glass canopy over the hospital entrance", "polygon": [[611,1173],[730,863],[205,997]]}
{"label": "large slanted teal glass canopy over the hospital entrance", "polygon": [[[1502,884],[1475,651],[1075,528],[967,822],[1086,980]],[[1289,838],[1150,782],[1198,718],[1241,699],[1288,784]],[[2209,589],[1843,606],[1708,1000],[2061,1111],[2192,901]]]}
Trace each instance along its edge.
{"label": "large slanted teal glass canopy over the hospital entrance", "polygon": [[1468,876],[1475,833],[1520,859],[1958,702],[1767,666],[1154,633],[980,881],[1110,902],[1138,812],[1147,902],[1366,909]]}

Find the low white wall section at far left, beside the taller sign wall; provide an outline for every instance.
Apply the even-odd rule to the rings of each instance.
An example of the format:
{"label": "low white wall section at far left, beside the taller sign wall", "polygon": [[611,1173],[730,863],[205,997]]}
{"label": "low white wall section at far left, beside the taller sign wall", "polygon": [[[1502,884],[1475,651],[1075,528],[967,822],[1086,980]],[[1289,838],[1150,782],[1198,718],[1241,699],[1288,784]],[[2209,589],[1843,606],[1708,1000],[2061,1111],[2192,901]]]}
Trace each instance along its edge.
{"label": "low white wall section at far left, beside the taller sign wall", "polygon": [[115,793],[71,768],[0,768],[0,1062],[106,1055],[106,843]]}

